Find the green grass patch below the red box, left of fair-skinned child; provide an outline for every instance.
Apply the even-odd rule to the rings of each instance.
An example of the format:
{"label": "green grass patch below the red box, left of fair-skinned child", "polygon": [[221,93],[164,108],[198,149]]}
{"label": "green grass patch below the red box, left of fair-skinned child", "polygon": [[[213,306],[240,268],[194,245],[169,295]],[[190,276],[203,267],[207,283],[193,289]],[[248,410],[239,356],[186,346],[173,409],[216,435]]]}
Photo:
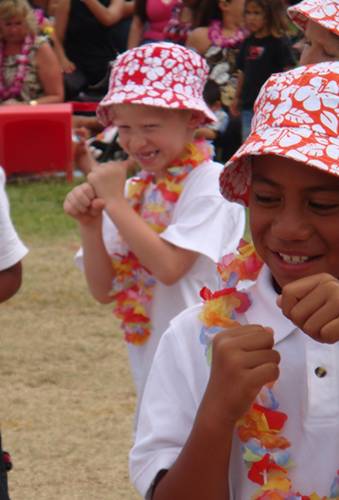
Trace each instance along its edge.
{"label": "green grass patch below the red box, left of fair-skinned child", "polygon": [[82,182],[73,183],[61,178],[17,180],[6,190],[11,204],[11,218],[25,240],[51,240],[76,234],[76,222],[63,211],[66,194]]}

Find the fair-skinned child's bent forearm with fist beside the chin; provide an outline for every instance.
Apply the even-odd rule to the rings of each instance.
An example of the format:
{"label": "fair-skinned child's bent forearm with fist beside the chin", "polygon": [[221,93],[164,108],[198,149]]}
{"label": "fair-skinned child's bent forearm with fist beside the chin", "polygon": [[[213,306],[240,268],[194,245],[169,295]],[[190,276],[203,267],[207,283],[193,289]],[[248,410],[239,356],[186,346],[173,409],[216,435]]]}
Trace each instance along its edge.
{"label": "fair-skinned child's bent forearm with fist beside the chin", "polygon": [[141,264],[159,281],[172,285],[189,270],[198,254],[163,240],[129,205],[124,196],[128,166],[128,161],[101,164],[88,175],[88,182]]}

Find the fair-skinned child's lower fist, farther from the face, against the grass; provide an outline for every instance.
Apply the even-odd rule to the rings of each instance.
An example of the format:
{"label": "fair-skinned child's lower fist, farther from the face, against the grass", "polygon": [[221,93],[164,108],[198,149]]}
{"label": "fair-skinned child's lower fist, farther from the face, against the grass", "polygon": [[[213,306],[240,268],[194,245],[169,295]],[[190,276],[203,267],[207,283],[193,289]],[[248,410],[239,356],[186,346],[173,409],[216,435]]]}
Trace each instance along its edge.
{"label": "fair-skinned child's lower fist, farther from the face, against the grass", "polygon": [[89,225],[100,221],[105,202],[96,197],[90,184],[85,182],[68,193],[64,201],[66,214],[80,224]]}

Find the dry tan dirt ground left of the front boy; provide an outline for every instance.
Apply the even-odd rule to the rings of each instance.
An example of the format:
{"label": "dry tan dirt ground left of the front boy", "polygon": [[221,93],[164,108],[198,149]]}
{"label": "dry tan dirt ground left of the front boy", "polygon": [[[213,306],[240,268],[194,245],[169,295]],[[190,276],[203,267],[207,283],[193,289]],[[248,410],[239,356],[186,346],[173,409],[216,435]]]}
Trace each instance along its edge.
{"label": "dry tan dirt ground left of the front boy", "polygon": [[110,306],[89,297],[76,241],[30,243],[0,307],[0,422],[12,500],[135,500],[134,390]]}

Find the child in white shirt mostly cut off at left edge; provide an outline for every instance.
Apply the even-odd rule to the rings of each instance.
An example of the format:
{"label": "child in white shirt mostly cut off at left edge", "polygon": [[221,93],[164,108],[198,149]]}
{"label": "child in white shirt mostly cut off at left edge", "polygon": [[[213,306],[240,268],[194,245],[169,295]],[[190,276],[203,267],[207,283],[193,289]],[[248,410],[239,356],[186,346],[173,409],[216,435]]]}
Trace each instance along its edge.
{"label": "child in white shirt mostly cut off at left edge", "polygon": [[[21,286],[21,260],[27,248],[19,239],[9,214],[5,192],[6,176],[0,167],[0,303],[10,299]],[[2,451],[0,434],[0,500],[9,500],[7,470],[8,454]]]}

